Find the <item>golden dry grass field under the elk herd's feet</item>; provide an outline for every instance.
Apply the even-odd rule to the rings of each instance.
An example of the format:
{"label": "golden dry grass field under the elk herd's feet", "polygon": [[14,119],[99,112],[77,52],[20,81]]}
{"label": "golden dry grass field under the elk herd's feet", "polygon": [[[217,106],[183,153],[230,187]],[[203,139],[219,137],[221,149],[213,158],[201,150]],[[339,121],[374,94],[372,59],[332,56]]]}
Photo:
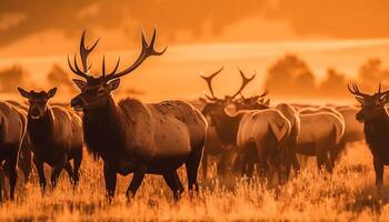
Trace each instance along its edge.
{"label": "golden dry grass field under the elk herd's feet", "polygon": [[[257,179],[213,176],[201,181],[198,196],[184,194],[178,202],[162,178],[148,175],[131,202],[124,196],[130,176],[119,176],[117,196],[109,203],[101,170],[101,162],[87,155],[80,185],[73,190],[62,173],[58,188],[46,196],[34,173],[30,183],[18,184],[14,202],[0,206],[0,220],[389,220],[389,186],[377,191],[371,155],[362,143],[349,147],[332,175],[316,170],[310,160],[299,175],[272,189]],[[186,181],[183,171],[180,178]]]}

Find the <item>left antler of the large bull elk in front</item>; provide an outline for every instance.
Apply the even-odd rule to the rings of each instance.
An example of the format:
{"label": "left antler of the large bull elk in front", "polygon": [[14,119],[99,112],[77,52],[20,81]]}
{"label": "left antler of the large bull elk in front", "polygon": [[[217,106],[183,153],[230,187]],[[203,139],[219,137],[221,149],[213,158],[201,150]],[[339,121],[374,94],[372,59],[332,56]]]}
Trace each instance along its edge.
{"label": "left antler of the large bull elk in front", "polygon": [[82,70],[79,68],[77,63],[77,54],[74,54],[74,67],[70,62],[70,58],[68,56],[68,64],[69,68],[72,72],[76,74],[83,77],[86,79],[90,78],[89,75],[89,70],[91,68],[91,64],[88,67],[88,56],[90,52],[93,51],[96,46],[99,43],[100,38],[92,44],[92,47],[86,47],[86,31],[83,30],[82,36],[81,36],[81,41],[80,41],[80,57],[81,57],[81,62],[82,62]]}

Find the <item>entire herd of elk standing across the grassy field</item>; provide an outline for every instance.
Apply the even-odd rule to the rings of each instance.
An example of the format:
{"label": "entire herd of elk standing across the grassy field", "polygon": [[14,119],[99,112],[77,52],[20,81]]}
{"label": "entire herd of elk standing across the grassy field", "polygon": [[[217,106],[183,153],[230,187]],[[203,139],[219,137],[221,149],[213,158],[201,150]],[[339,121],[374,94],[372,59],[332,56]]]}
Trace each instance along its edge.
{"label": "entire herd of elk standing across the grassy field", "polygon": [[113,70],[107,72],[103,57],[102,71],[96,77],[91,74],[88,58],[99,40],[88,47],[83,32],[79,46],[81,67],[77,54],[73,63],[68,57],[70,70],[83,78],[73,79],[81,92],[70,105],[49,104],[57,88],[48,92],[18,88],[19,93],[28,99],[28,105],[16,101],[0,102],[0,200],[6,194],[4,178],[9,178],[9,195],[13,200],[17,170],[19,168],[28,181],[31,162],[38,171],[43,193],[44,163],[53,168],[52,188],[63,169],[77,185],[83,145],[103,161],[109,199],[114,196],[117,175],[133,173],[126,192],[128,199],[136,195],[146,174],[159,174],[178,200],[184,191],[177,172],[181,165],[186,165],[189,192],[197,192],[199,165],[202,163],[203,179],[207,179],[210,155],[221,155],[217,164],[220,175],[233,169],[251,178],[257,165],[268,182],[275,174],[280,183],[286,182],[291,168],[298,172],[300,162],[297,155],[301,154],[316,157],[318,168],[325,167],[332,172],[346,145],[363,139],[373,155],[376,184],[382,185],[383,165],[389,164],[386,148],[389,90],[381,92],[379,85],[378,92],[366,94],[357,84],[348,85],[361,104],[360,110],[356,107],[292,103],[270,107],[270,100],[265,100],[268,91],[243,97],[242,91],[256,73],[248,78],[240,69],[242,83],[239,90],[223,99],[217,98],[212,80],[222,71],[221,68],[208,77],[201,74],[210,91],[210,95],[206,93],[206,98],[200,98],[201,111],[180,100],[143,103],[127,98],[117,102],[113,91],[119,88],[120,78],[130,74],[149,57],[161,56],[167,50],[157,51],[156,39],[156,29],[149,42],[142,32],[140,54],[121,71],[118,59]]}

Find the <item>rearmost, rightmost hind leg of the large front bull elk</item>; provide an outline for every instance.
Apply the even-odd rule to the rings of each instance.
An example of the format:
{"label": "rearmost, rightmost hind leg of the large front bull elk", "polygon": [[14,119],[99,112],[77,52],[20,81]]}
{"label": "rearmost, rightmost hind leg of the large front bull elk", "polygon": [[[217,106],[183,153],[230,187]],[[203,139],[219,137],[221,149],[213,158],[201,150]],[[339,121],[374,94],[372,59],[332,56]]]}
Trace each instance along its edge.
{"label": "rearmost, rightmost hind leg of the large front bull elk", "polygon": [[197,183],[197,173],[199,170],[199,164],[202,155],[202,144],[200,148],[193,149],[192,153],[189,155],[186,168],[188,176],[188,185],[190,193],[194,190],[197,193],[199,191],[199,184]]}

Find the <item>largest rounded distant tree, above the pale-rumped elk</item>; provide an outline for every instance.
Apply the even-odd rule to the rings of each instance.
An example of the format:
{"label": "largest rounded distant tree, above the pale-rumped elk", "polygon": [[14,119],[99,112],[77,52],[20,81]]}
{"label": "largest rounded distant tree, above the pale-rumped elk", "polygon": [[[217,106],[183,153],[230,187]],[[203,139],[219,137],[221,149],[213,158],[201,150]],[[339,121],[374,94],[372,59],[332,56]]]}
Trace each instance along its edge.
{"label": "largest rounded distant tree, above the pale-rumped elk", "polygon": [[305,61],[287,54],[270,67],[266,88],[278,95],[311,97],[316,93],[315,75]]}

